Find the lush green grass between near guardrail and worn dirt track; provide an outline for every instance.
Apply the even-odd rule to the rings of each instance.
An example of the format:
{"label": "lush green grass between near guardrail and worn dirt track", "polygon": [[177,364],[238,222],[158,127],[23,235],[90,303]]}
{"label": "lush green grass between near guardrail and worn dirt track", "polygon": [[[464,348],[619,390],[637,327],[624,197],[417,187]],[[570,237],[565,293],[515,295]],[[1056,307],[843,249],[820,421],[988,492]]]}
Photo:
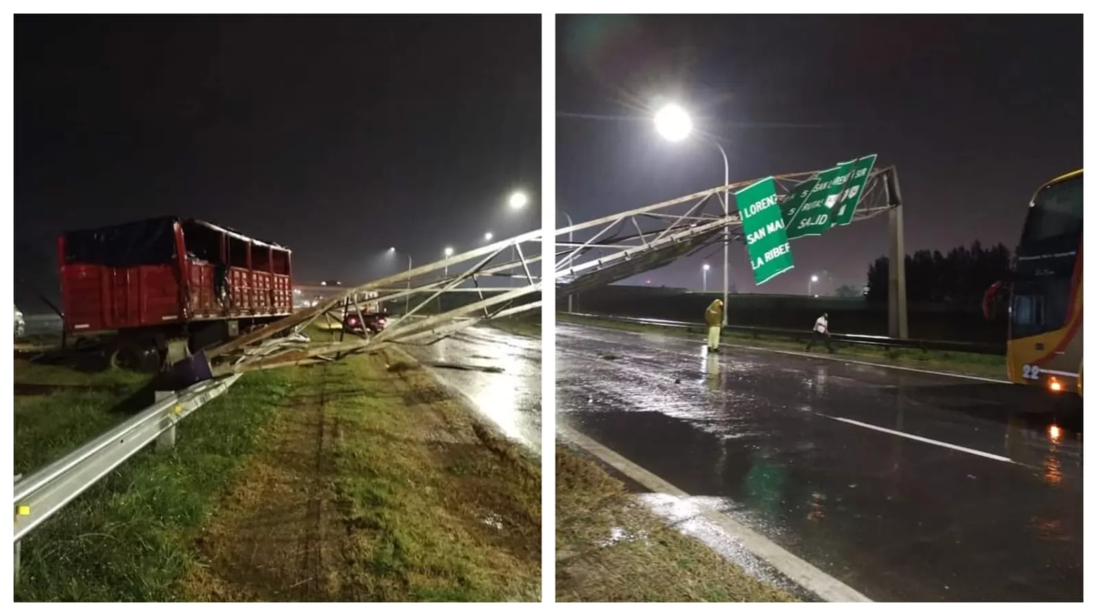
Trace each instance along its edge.
{"label": "lush green grass between near guardrail and worn dirt track", "polygon": [[[104,378],[128,378],[105,374]],[[245,376],[179,424],[173,450],[146,448],[33,531],[22,541],[15,600],[183,598],[178,581],[193,560],[194,531],[256,448],[260,429],[292,385],[292,370]],[[37,418],[33,431],[22,429],[24,453],[34,453],[39,445],[79,444],[87,440],[82,434],[90,438],[124,419],[102,420],[100,429],[100,420],[80,415],[94,413],[93,402],[88,399],[83,407],[60,410],[44,407],[44,414],[63,418],[69,427],[61,430],[61,436],[47,435],[46,430],[56,425]],[[22,412],[30,413],[16,404],[16,415]],[[50,461],[56,456],[38,457]]]}

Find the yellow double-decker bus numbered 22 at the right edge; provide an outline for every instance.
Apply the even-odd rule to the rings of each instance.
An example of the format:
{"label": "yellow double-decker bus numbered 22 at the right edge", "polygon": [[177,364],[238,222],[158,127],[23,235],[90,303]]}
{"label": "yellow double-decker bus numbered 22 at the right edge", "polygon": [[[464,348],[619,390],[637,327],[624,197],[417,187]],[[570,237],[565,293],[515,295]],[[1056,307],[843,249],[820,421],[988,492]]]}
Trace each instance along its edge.
{"label": "yellow double-decker bus numbered 22 at the right edge", "polygon": [[1008,284],[1009,380],[1082,395],[1082,170],[1029,203]]}

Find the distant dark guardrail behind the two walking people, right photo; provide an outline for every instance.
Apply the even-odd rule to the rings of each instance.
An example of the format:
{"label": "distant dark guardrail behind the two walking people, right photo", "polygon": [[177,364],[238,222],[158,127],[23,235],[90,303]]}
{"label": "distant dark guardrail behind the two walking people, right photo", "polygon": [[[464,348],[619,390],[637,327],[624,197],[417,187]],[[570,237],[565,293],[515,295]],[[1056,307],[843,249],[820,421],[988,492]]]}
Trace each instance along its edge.
{"label": "distant dark guardrail behind the two walking people, right photo", "polygon": [[[603,321],[619,321],[646,326],[658,326],[664,328],[697,329],[703,332],[704,323],[689,321],[668,321],[664,319],[643,319],[638,317],[618,317],[613,315],[591,315],[585,312],[562,312],[572,317],[583,317],[587,319],[598,319]],[[759,335],[788,336],[796,340],[806,340],[812,335],[810,330],[790,330],[781,328],[754,328],[747,326],[724,327],[724,330],[737,331],[742,333]],[[892,349],[920,349],[923,351],[955,351],[962,353],[979,353],[983,355],[1005,355],[1006,344],[985,344],[979,342],[953,342],[948,340],[913,340],[889,338],[886,335],[869,335],[860,333],[832,333],[830,340],[846,344],[858,344],[862,346],[886,346]]]}

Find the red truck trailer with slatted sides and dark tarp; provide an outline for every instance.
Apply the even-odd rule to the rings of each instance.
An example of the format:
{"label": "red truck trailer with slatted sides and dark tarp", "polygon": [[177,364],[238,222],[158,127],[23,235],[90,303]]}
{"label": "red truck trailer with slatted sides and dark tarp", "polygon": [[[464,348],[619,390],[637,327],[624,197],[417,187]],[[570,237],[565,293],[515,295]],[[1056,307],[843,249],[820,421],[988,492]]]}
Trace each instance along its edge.
{"label": "red truck trailer with slatted sides and dark tarp", "polygon": [[65,333],[154,370],[293,311],[291,251],[173,216],[57,240]]}

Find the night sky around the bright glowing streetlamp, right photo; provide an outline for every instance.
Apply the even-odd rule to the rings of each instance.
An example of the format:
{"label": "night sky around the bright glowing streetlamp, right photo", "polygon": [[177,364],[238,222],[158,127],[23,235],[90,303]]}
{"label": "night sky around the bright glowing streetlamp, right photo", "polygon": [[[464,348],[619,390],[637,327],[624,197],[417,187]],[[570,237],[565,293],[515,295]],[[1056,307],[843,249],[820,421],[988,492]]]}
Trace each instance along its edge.
{"label": "night sky around the bright glowing streetlamp, right photo", "polygon": [[[559,18],[556,93],[557,213],[576,221],[721,183],[715,147],[655,133],[667,96],[724,144],[733,181],[878,153],[900,172],[907,252],[1013,249],[1032,192],[1082,167],[1082,18]],[[885,232],[878,217],[795,240],[795,269],[757,290],[805,293],[824,270],[863,285]],[[699,288],[702,260],[630,282]],[[732,281],[756,289],[742,243]]]}

